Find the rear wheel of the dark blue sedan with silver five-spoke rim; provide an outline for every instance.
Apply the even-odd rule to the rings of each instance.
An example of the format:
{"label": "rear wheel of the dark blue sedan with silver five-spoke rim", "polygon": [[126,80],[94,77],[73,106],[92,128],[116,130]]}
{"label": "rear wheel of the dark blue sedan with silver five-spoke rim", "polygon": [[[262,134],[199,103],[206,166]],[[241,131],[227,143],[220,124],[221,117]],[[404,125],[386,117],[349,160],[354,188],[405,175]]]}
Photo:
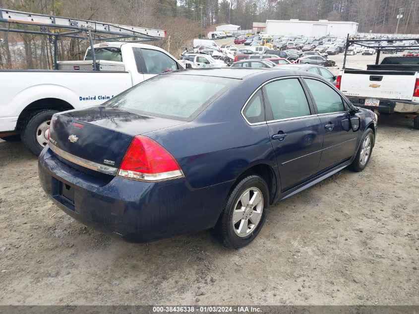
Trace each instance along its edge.
{"label": "rear wheel of the dark blue sedan with silver five-spoke rim", "polygon": [[239,249],[252,242],[265,222],[269,189],[258,175],[239,181],[228,196],[223,212],[212,229],[224,246]]}

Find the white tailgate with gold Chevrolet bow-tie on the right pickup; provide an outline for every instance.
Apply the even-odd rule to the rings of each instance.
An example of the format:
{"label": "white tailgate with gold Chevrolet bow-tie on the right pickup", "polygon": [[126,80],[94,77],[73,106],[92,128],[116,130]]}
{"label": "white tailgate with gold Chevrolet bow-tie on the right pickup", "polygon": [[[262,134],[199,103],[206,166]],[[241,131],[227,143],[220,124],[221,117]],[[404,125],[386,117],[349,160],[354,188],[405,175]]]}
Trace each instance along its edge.
{"label": "white tailgate with gold Chevrolet bow-tie on the right pickup", "polygon": [[345,70],[341,91],[348,97],[412,100],[417,72]]}

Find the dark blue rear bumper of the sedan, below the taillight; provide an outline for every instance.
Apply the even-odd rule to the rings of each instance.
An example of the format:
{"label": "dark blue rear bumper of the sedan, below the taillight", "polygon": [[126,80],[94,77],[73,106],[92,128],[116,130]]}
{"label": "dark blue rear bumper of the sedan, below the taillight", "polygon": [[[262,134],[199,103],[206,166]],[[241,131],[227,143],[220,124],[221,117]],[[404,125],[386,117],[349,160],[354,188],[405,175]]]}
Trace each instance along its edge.
{"label": "dark blue rear bumper of the sedan, below the taillight", "polygon": [[[213,227],[231,183],[192,189],[184,178],[146,183],[99,179],[58,160],[48,146],[38,162],[45,193],[65,213],[96,230],[129,242],[150,242]],[[60,185],[74,189],[73,202]]]}

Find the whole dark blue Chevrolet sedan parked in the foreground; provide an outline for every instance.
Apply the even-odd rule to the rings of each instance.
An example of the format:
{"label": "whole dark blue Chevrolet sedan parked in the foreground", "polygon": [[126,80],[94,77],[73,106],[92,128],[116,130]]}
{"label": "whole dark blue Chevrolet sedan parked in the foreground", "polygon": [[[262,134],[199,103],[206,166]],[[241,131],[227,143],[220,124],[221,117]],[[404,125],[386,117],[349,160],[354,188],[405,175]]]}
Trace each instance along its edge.
{"label": "whole dark blue Chevrolet sedan parked in the foreground", "polygon": [[39,178],[68,215],[124,240],[211,229],[239,248],[270,204],[363,170],[376,123],[309,72],[180,70],[55,114]]}

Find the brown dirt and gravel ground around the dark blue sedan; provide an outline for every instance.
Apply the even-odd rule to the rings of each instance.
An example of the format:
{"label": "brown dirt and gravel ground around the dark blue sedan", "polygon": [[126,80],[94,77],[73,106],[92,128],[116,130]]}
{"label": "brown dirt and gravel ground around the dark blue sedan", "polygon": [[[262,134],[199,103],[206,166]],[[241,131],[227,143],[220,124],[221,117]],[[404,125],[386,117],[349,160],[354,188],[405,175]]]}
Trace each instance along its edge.
{"label": "brown dirt and gravel ground around the dark blue sedan", "polygon": [[363,172],[272,206],[240,250],[207,231],[150,244],[95,232],[45,196],[35,156],[0,140],[0,305],[419,305],[419,130],[378,124]]}

